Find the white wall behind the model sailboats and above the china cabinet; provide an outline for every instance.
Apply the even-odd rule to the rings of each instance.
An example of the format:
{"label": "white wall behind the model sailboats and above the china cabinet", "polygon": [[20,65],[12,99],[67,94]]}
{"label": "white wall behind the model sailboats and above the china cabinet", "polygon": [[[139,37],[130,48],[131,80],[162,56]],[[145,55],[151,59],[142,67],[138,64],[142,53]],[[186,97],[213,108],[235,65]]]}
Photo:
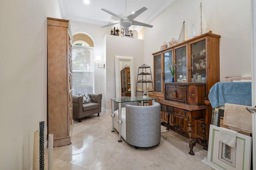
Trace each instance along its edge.
{"label": "white wall behind the model sailboats and above the china cabinet", "polygon": [[[153,66],[152,53],[172,38],[178,39],[182,22],[186,21],[192,38],[192,24],[197,30],[201,0],[176,0],[156,17],[152,28],[144,28],[144,61]],[[202,0],[208,28],[220,38],[220,81],[225,76],[251,75],[250,0]]]}

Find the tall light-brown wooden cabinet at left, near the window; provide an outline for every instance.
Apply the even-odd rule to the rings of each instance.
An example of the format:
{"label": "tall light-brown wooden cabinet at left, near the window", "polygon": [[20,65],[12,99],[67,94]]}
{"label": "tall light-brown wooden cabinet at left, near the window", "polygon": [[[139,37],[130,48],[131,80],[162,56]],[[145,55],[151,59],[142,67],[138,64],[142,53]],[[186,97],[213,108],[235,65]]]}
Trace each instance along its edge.
{"label": "tall light-brown wooden cabinet at left, near the window", "polygon": [[47,18],[48,133],[54,147],[71,143],[71,39],[68,20]]}

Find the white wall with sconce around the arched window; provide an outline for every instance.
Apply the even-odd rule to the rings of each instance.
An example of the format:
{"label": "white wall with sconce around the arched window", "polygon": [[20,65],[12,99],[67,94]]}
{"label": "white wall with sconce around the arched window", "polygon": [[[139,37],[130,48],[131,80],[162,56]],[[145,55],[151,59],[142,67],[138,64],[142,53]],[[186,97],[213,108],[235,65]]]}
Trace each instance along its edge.
{"label": "white wall with sconce around the arched window", "polygon": [[[101,28],[100,25],[93,25],[89,23],[82,23],[78,21],[70,21],[72,34],[76,33],[86,33],[89,35],[94,42],[94,57],[101,56],[101,63],[99,67],[103,67],[103,64],[106,63],[104,57],[104,36],[110,34],[111,27]],[[103,88],[103,80],[106,78],[106,69],[98,68],[98,64],[94,62],[94,92],[102,94],[102,107],[106,108],[105,103],[105,91],[106,88]],[[104,110],[102,110],[104,112]]]}

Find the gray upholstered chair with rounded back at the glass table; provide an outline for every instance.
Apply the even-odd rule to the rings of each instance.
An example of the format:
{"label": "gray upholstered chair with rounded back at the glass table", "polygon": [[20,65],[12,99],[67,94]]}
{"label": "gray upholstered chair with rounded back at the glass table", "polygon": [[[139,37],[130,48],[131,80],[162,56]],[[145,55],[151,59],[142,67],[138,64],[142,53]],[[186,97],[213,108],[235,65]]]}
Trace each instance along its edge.
{"label": "gray upholstered chair with rounded back at the glass table", "polygon": [[153,147],[161,139],[161,106],[126,105],[126,142],[138,147]]}

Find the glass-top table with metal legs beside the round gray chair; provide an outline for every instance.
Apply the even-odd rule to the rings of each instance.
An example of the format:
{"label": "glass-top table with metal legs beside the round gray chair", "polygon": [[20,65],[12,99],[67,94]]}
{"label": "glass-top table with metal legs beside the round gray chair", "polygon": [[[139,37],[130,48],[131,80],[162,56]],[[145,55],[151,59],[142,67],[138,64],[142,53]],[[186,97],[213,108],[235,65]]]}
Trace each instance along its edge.
{"label": "glass-top table with metal legs beside the round gray chair", "polygon": [[110,98],[112,100],[112,131],[114,131],[114,102],[118,103],[118,124],[119,124],[119,140],[118,142],[122,142],[121,140],[121,114],[122,114],[122,103],[123,102],[141,102],[141,106],[144,106],[144,102],[148,102],[152,100],[152,104],[154,104],[156,98],[146,97],[146,96],[135,96],[135,97],[119,97],[119,98]]}

